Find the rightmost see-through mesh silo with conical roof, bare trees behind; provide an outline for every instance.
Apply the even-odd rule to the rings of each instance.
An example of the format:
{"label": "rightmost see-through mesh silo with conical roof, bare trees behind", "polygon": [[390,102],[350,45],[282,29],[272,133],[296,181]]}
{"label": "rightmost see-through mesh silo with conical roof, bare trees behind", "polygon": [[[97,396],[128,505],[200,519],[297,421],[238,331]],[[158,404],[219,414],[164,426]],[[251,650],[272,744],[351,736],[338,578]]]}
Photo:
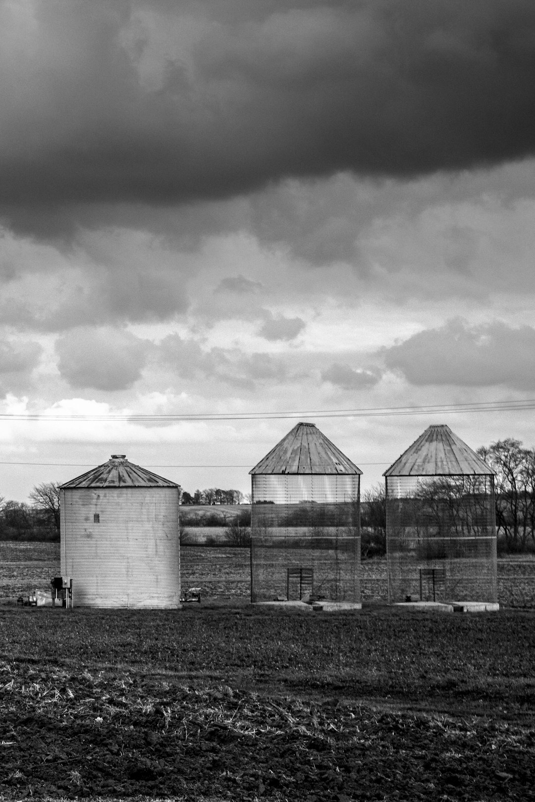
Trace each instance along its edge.
{"label": "rightmost see-through mesh silo with conical roof, bare trees behind", "polygon": [[497,602],[494,474],[445,425],[387,471],[390,602]]}

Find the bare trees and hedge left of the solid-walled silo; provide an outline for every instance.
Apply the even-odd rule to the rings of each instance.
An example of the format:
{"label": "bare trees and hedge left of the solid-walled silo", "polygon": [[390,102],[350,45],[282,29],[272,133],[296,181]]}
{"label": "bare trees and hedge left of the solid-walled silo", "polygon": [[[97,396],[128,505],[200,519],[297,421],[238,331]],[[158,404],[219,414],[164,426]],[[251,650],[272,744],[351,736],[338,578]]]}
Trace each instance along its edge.
{"label": "bare trees and hedge left of the solid-walled silo", "polygon": [[31,504],[0,496],[0,540],[59,541],[59,482],[35,485]]}

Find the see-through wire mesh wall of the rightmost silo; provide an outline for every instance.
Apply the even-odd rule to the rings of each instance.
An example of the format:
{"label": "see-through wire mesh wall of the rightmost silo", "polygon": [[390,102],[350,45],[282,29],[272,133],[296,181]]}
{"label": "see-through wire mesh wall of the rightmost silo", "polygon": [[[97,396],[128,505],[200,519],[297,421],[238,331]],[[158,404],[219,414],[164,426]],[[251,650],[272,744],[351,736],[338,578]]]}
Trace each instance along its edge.
{"label": "see-through wire mesh wall of the rightmost silo", "polygon": [[388,598],[497,602],[493,476],[387,476]]}

